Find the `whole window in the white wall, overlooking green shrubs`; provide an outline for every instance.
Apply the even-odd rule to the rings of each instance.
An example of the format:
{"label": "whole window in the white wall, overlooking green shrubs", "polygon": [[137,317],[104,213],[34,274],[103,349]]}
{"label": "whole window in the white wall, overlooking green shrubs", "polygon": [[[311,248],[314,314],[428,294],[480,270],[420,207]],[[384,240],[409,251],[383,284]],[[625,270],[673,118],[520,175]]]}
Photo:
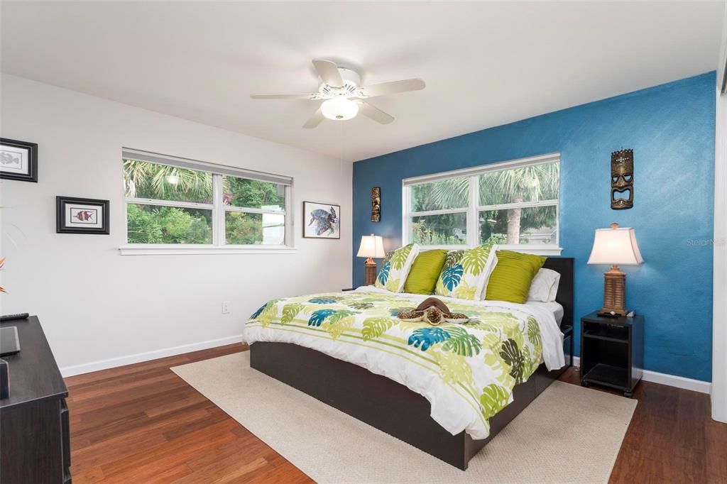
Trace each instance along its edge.
{"label": "whole window in the white wall, overlooking green shrubs", "polygon": [[126,242],[134,249],[292,246],[292,179],[124,149]]}

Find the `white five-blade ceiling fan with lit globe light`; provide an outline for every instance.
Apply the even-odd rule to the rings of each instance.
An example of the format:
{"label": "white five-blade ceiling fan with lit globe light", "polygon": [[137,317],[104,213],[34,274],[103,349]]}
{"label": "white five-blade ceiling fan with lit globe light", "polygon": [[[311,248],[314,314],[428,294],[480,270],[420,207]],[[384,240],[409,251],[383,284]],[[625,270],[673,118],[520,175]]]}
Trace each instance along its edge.
{"label": "white five-blade ceiling fan with lit globe light", "polygon": [[345,121],[358,113],[381,124],[394,121],[393,116],[366,102],[369,97],[398,94],[399,92],[419,91],[426,84],[422,79],[391,81],[372,86],[361,86],[361,76],[355,70],[342,68],[330,60],[314,60],[318,76],[323,83],[318,92],[308,94],[252,94],[252,99],[308,99],[323,101],[313,116],[303,124],[306,129],[315,128],[324,118]]}

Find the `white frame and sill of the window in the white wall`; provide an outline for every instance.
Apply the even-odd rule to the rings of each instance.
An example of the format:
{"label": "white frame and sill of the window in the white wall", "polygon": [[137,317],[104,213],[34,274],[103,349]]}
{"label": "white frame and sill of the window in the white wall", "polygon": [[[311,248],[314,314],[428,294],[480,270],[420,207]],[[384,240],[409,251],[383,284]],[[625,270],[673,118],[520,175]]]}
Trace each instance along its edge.
{"label": "white frame and sill of the window in the white wall", "polygon": [[[293,217],[293,179],[277,174],[255,172],[235,166],[210,164],[205,161],[177,158],[159,153],[124,148],[121,161],[124,159],[137,159],[153,164],[177,166],[179,168],[196,170],[212,174],[212,203],[196,203],[186,201],[156,200],[153,198],[124,197],[124,245],[119,247],[121,255],[164,255],[164,254],[294,254],[294,217]],[[229,206],[222,203],[222,177],[246,178],[263,182],[274,182],[285,187],[284,210],[252,209],[246,207]],[[128,243],[128,213],[129,203],[137,205],[174,206],[182,209],[202,209],[212,211],[212,243]],[[229,244],[225,238],[225,214],[228,211],[238,211],[249,214],[275,214],[285,217],[285,242],[281,245],[262,244]]]}

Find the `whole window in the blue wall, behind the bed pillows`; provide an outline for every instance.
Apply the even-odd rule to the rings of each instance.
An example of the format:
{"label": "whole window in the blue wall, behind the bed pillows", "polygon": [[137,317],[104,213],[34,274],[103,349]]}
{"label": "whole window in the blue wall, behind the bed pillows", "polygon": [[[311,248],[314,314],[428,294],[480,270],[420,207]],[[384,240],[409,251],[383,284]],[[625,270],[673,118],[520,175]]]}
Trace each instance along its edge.
{"label": "whole window in the blue wall, behind the bed pillows", "polygon": [[559,254],[560,165],[547,155],[403,180],[403,241]]}

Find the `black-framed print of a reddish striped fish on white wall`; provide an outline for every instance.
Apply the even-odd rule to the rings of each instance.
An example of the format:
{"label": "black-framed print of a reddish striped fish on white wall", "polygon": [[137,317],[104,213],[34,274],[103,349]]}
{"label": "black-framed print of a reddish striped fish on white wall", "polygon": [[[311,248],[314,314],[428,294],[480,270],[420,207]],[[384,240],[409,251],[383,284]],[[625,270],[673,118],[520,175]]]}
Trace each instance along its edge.
{"label": "black-framed print of a reddish striped fish on white wall", "polygon": [[55,198],[57,233],[108,234],[108,200]]}

